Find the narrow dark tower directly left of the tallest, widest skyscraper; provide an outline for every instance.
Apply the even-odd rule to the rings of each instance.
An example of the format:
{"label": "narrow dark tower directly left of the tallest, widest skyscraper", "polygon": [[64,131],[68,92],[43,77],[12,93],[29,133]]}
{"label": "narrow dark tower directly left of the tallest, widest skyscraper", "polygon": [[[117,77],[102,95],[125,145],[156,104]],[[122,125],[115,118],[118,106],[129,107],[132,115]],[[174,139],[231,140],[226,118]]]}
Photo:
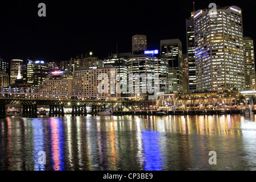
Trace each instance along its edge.
{"label": "narrow dark tower directly left of the tallest, widest skyscraper", "polygon": [[195,35],[194,35],[194,22],[193,22],[194,13],[195,12],[192,11],[191,17],[189,19],[186,19],[187,58],[188,58],[188,93],[192,93],[196,90]]}

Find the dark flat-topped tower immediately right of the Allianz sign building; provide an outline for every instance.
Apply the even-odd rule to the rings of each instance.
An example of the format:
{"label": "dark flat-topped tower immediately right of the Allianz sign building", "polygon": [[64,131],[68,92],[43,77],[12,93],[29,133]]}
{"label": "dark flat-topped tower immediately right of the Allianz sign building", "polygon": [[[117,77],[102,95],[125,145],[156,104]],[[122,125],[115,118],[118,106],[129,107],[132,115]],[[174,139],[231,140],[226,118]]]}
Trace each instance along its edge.
{"label": "dark flat-topped tower immediately right of the Allianz sign building", "polygon": [[160,40],[161,53],[168,61],[168,93],[183,93],[182,44],[179,39]]}

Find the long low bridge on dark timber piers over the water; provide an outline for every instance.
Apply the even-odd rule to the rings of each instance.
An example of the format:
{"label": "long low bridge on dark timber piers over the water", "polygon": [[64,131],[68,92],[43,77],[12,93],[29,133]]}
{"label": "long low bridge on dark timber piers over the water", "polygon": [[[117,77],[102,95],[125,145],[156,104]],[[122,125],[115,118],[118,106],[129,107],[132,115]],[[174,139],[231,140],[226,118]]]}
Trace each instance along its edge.
{"label": "long low bridge on dark timber piers over the water", "polygon": [[[23,117],[37,117],[38,106],[49,106],[49,116],[64,115],[64,107],[72,107],[72,115],[87,115],[86,106],[96,107],[122,106],[125,97],[109,97],[102,100],[97,96],[67,96],[67,99],[60,98],[38,98],[38,94],[32,93],[0,93],[0,116],[6,115],[6,105],[22,105]],[[76,99],[71,99],[76,98]],[[81,99],[82,98],[82,99]]]}

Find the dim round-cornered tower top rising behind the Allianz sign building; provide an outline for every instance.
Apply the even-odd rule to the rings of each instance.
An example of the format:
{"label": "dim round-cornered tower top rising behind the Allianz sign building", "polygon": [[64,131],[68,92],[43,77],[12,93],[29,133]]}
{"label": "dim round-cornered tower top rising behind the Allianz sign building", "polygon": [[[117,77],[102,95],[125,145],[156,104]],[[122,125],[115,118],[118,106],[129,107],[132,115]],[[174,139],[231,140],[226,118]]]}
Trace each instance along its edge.
{"label": "dim round-cornered tower top rising behind the Allianz sign building", "polygon": [[132,48],[131,51],[134,54],[135,52],[142,52],[147,50],[147,36],[146,35],[134,35],[132,38]]}

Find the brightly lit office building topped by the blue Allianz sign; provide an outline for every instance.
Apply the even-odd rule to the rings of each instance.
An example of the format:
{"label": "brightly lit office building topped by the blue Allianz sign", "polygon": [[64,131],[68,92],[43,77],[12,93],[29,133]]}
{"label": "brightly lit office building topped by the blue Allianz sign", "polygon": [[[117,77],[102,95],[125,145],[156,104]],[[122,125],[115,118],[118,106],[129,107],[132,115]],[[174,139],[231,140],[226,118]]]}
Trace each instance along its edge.
{"label": "brightly lit office building topped by the blue Allianz sign", "polygon": [[[167,68],[168,62],[165,57],[160,56],[158,50],[144,51],[144,54],[129,57],[127,62],[127,88],[131,96],[146,97],[148,93],[166,93]],[[158,79],[155,79],[155,76]],[[149,79],[151,79],[151,82]]]}

